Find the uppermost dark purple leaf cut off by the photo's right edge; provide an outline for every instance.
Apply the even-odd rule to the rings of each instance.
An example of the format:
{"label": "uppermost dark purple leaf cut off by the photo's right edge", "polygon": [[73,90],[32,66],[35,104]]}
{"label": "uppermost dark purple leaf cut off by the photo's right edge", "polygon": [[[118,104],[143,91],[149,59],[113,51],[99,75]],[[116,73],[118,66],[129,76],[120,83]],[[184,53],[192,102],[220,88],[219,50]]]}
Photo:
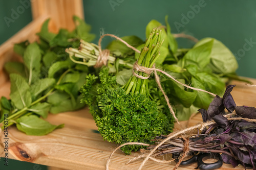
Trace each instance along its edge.
{"label": "uppermost dark purple leaf cut off by the photo's right edge", "polygon": [[236,113],[244,118],[256,119],[256,108],[247,106],[237,106]]}

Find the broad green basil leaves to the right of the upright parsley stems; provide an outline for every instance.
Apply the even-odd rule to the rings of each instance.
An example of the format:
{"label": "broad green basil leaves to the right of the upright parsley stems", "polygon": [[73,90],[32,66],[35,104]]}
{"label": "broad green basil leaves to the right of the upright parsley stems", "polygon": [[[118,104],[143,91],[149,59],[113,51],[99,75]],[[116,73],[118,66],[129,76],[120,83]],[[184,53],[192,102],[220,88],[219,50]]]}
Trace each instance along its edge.
{"label": "broad green basil leaves to the right of the upright parsley stems", "polygon": [[[250,83],[236,75],[237,60],[222,42],[215,38],[203,38],[191,48],[179,48],[167,16],[165,26],[156,20],[150,21],[146,27],[146,36],[155,27],[162,30],[161,39],[164,39],[156,66],[169,71],[178,81],[220,96],[225,91],[225,83],[230,79]],[[199,108],[207,109],[213,100],[211,95],[186,89],[164,75],[161,85],[170,103],[175,106],[179,120],[187,120]]]}

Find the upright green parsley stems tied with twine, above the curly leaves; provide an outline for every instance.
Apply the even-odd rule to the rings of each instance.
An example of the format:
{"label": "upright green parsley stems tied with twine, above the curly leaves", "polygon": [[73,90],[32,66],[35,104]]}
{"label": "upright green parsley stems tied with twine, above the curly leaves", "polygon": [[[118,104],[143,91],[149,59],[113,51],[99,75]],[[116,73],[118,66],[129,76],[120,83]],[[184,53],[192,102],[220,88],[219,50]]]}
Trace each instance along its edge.
{"label": "upright green parsley stems tied with twine, above the curly leaves", "polygon": [[[158,57],[160,56],[160,47],[163,43],[161,40],[161,30],[154,28],[146,40],[145,46],[142,48],[137,64],[140,66],[152,68]],[[139,76],[147,77],[144,72],[134,70]],[[146,89],[148,87],[147,79],[140,79],[136,76],[130,78],[128,83],[124,86],[126,93],[139,92],[141,94],[148,94]]]}

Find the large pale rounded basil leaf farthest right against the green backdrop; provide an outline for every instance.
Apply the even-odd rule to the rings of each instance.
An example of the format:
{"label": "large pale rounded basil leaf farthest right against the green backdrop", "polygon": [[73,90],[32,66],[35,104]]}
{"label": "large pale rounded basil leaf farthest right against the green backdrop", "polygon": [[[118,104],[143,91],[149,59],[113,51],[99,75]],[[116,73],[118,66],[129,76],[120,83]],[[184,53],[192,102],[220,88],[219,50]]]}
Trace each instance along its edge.
{"label": "large pale rounded basil leaf farthest right against the green backdrop", "polygon": [[195,46],[214,41],[210,54],[210,68],[218,74],[230,74],[238,68],[238,62],[232,52],[215,38],[204,38],[197,42]]}

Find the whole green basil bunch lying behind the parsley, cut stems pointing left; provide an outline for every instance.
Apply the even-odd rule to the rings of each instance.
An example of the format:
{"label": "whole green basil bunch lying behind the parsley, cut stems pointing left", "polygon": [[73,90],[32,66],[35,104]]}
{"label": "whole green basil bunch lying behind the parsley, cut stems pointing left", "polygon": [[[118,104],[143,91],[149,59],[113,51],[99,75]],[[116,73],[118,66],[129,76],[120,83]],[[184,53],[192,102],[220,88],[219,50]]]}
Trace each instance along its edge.
{"label": "whole green basil bunch lying behind the parsley, cut stems pointing left", "polygon": [[[236,75],[235,71],[238,68],[236,58],[223,43],[214,38],[204,38],[191,48],[179,48],[174,34],[171,33],[167,16],[165,25],[162,26],[160,22],[152,20],[146,27],[146,37],[150,35],[153,28],[159,28],[162,31],[160,38],[163,43],[159,49],[161,54],[155,61],[156,67],[170,72],[181,83],[218,95],[223,95],[225,83],[230,79],[248,82]],[[136,36],[126,36],[122,39],[137,47],[138,50],[145,46],[145,42]],[[106,48],[110,50],[107,66],[110,72],[116,74],[117,83],[124,85],[132,72],[130,65],[138,60],[139,54],[134,53],[130,47],[118,40],[112,41]],[[75,62],[84,65],[95,64],[99,54],[97,45],[86,42],[82,42],[78,49],[69,48],[67,52],[73,60],[76,59]],[[113,60],[113,57],[117,59]],[[213,100],[210,94],[186,89],[164,75],[161,77],[161,85],[170,103],[175,106],[179,120],[187,120],[199,108],[207,109]]]}

